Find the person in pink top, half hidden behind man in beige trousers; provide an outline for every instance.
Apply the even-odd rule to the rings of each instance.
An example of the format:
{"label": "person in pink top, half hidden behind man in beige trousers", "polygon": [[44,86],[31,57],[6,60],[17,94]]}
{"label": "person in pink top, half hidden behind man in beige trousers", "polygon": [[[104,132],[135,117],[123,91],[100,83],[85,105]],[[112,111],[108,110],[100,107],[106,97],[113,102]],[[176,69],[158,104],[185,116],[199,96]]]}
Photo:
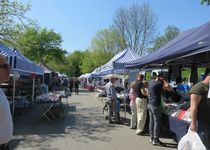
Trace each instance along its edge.
{"label": "person in pink top, half hidden behind man in beige trousers", "polygon": [[136,82],[133,81],[130,84],[130,107],[131,107],[131,121],[130,121],[130,129],[135,129],[137,124],[137,109],[136,109],[136,91],[135,91]]}

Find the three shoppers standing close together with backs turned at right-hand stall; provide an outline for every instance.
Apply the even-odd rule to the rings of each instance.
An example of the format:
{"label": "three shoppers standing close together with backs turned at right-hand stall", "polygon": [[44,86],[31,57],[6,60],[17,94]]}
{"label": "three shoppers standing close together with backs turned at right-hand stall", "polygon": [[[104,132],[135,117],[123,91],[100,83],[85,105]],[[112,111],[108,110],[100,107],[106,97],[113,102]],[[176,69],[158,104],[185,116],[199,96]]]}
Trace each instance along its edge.
{"label": "three shoppers standing close together with backs turned at right-hand stall", "polygon": [[149,83],[144,81],[144,75],[139,74],[137,80],[131,83],[129,93],[131,107],[130,128],[136,129],[141,135],[149,112],[149,134],[153,145],[164,145],[159,140],[161,126],[161,95],[162,90],[170,90],[163,75],[154,75]]}

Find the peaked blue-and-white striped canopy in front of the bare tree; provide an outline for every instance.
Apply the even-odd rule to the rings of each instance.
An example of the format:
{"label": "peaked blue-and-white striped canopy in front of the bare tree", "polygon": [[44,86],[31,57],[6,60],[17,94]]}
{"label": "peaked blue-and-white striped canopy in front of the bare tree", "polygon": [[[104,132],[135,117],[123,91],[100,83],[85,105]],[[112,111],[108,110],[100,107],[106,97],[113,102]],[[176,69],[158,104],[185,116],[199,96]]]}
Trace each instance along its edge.
{"label": "peaked blue-and-white striped canopy in front of the bare tree", "polygon": [[125,49],[124,51],[115,55],[108,63],[99,67],[95,72],[101,75],[107,75],[111,73],[123,74],[125,71],[125,62],[133,61],[140,58],[140,56],[130,49]]}

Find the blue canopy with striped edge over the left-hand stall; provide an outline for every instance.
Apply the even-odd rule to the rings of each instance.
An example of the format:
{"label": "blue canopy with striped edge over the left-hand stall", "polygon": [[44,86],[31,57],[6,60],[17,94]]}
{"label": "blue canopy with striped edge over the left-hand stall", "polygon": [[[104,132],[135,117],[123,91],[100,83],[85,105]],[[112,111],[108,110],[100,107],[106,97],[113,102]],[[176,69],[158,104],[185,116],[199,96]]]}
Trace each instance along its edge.
{"label": "blue canopy with striped edge over the left-hand stall", "polygon": [[7,46],[0,44],[0,54],[4,55],[11,67],[11,71],[20,73],[43,74],[44,70],[37,64],[30,61],[15,49],[10,49]]}

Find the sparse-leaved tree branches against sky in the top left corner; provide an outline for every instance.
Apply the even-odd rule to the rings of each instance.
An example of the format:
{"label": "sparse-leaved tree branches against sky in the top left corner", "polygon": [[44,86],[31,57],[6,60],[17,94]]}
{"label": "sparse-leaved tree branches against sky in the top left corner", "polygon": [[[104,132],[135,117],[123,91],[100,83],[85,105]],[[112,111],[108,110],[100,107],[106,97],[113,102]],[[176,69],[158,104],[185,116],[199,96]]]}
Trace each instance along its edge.
{"label": "sparse-leaved tree branches against sky in the top left corner", "polygon": [[20,26],[34,24],[34,22],[25,16],[30,10],[30,5],[24,5],[16,0],[0,1],[0,42],[6,45],[14,45],[17,35],[20,32]]}

